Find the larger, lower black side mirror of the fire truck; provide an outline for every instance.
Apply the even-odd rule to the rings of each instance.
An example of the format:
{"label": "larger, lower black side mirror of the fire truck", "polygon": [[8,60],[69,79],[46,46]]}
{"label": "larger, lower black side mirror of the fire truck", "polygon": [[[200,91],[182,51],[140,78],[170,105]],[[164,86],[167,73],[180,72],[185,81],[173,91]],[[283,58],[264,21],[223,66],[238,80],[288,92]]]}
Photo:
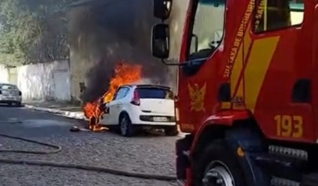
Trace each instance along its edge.
{"label": "larger, lower black side mirror of the fire truck", "polygon": [[163,23],[154,25],[151,37],[152,55],[167,59],[169,57],[169,25]]}

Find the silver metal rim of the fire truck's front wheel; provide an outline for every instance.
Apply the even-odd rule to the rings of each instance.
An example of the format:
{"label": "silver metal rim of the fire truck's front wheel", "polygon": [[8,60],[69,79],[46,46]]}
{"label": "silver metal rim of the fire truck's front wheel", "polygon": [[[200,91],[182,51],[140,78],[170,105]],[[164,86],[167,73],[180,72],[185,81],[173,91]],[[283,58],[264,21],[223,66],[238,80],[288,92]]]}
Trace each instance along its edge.
{"label": "silver metal rim of the fire truck's front wheel", "polygon": [[207,167],[202,179],[203,186],[235,186],[230,169],[220,161],[213,161]]}

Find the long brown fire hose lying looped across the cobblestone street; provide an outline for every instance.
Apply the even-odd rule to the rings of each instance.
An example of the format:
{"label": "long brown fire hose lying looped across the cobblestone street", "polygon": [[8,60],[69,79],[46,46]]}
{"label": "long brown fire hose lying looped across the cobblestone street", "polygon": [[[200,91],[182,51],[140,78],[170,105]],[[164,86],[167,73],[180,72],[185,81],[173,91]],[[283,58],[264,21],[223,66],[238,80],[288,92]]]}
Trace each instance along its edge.
{"label": "long brown fire hose lying looped across the cobblestone street", "polygon": [[[2,137],[17,139],[25,142],[40,144],[48,147],[52,147],[55,150],[52,151],[32,151],[32,150],[9,150],[9,149],[0,149],[0,153],[27,153],[27,154],[55,154],[62,150],[60,146],[38,142],[31,139],[26,139],[22,137],[9,136],[5,134],[0,134]],[[82,169],[87,171],[97,171],[104,172],[108,174],[120,175],[120,176],[129,176],[143,179],[155,179],[155,180],[163,180],[163,181],[174,181],[176,180],[175,176],[165,176],[165,175],[156,175],[156,174],[144,174],[144,173],[136,173],[136,172],[128,172],[125,170],[119,169],[111,169],[106,167],[98,167],[98,166],[90,166],[90,165],[82,165],[82,164],[73,164],[73,163],[58,163],[58,162],[49,162],[49,161],[31,161],[31,160],[16,160],[16,159],[3,159],[0,158],[0,163],[6,164],[23,164],[23,165],[38,165],[38,166],[51,166],[51,167],[59,167],[59,168],[71,168],[71,169]]]}

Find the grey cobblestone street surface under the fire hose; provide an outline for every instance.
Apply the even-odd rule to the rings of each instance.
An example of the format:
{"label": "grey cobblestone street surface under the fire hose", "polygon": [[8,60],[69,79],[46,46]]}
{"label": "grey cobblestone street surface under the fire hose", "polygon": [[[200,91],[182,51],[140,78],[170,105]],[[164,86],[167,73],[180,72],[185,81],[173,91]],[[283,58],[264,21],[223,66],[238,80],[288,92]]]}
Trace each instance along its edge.
{"label": "grey cobblestone street surface under the fire hose", "polygon": [[[178,137],[142,135],[124,138],[110,132],[69,131],[79,120],[0,105],[0,133],[62,146],[51,155],[0,153],[0,158],[79,163],[132,172],[175,175],[174,143]],[[0,149],[44,150],[47,147],[0,137]],[[139,179],[77,169],[0,164],[2,186],[172,186],[175,182]]]}

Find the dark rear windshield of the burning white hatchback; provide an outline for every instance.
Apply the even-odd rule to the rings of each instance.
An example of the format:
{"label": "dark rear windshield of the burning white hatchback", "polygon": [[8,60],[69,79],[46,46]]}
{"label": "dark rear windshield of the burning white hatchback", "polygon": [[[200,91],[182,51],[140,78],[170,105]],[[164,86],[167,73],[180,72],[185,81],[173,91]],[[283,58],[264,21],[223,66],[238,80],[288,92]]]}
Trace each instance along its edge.
{"label": "dark rear windshield of the burning white hatchback", "polygon": [[173,99],[173,92],[160,88],[137,88],[139,98]]}

